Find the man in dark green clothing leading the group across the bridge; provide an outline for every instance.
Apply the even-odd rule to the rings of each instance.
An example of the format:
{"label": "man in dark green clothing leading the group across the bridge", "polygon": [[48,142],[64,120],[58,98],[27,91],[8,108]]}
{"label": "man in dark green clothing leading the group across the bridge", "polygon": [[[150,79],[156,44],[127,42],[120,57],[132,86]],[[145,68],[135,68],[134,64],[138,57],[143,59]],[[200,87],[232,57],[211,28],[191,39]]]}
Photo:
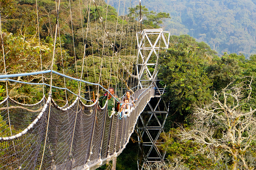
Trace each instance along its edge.
{"label": "man in dark green clothing leading the group across the bridge", "polygon": [[[99,98],[99,105],[100,105],[101,108],[104,107],[106,101],[108,101],[108,106],[107,106],[108,108],[107,109],[108,109],[109,116],[111,116],[111,114],[113,112],[115,112],[115,111],[118,112],[119,109],[120,109],[120,99],[118,99],[117,96],[115,96],[118,99],[118,101],[116,101],[111,96],[111,94],[112,94],[112,96],[115,96],[115,89],[114,89],[114,87],[110,87],[108,89],[108,91],[106,91],[106,96],[101,96]],[[92,101],[95,102],[96,100],[92,100]]]}

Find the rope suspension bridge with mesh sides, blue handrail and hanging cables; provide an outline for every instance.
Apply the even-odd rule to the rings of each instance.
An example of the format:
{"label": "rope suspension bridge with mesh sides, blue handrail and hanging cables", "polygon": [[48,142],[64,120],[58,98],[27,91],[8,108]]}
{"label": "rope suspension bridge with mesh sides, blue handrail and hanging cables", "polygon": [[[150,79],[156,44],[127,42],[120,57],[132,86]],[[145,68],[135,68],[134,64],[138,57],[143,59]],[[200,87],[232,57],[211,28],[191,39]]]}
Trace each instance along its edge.
{"label": "rope suspension bridge with mesh sides, blue handrail and hanging cables", "polygon": [[[140,3],[141,1],[139,1]],[[100,15],[94,0],[92,4],[95,5],[95,12]],[[56,2],[56,8],[58,8],[58,5]],[[55,50],[56,37],[59,31],[58,15],[56,16],[53,51]],[[5,72],[0,75],[0,81],[4,82],[6,87],[6,97],[0,103],[1,169],[96,169],[118,156],[125,149],[140,114],[148,102],[155,97],[156,93],[158,95],[163,93],[164,90],[157,87],[157,61],[159,52],[166,50],[169,46],[170,33],[162,29],[142,30],[141,26],[141,29],[134,33],[136,34],[136,38],[134,38],[136,45],[132,45],[137,49],[136,65],[134,68],[127,68],[127,65],[120,58],[119,51],[115,50],[121,48],[114,48],[115,42],[112,43],[109,36],[110,30],[106,29],[106,23],[103,23],[101,16],[99,19],[104,28],[102,32],[105,39],[108,40],[109,46],[113,49],[112,58],[118,60],[118,64],[126,72],[126,76],[132,78],[133,82],[129,88],[126,87],[124,90],[118,91],[118,87],[115,86],[116,92],[118,91],[118,96],[124,96],[126,90],[132,89],[134,91],[132,96],[137,99],[134,109],[127,116],[120,117],[118,112],[113,112],[109,116],[108,102],[101,108],[98,100],[100,90],[108,91],[108,87],[110,87],[111,73],[107,87],[100,83],[102,82],[101,75],[99,80],[94,83],[83,80],[84,68],[82,68],[81,78],[70,77],[64,73],[64,70],[63,73],[59,73],[53,70],[55,51],[49,70],[42,69],[29,73],[8,74],[4,69]],[[141,24],[141,16],[137,20]],[[2,57],[5,61],[4,38],[2,35],[1,39]],[[86,44],[84,44],[85,48]],[[131,55],[130,53],[129,56]],[[84,60],[86,60],[85,53],[83,66],[86,65]],[[101,64],[102,61],[103,57],[101,57]],[[5,63],[4,67],[6,68]],[[102,67],[100,66],[100,68]],[[134,70],[134,72],[130,70]],[[42,75],[41,82],[31,83],[17,79],[32,75]],[[64,82],[66,80],[77,82],[78,92],[73,92],[66,84],[65,87],[54,86],[53,77],[55,75],[62,78]],[[44,82],[44,77],[49,78],[49,84]],[[48,87],[49,92],[46,95],[44,94],[37,103],[20,103],[8,94],[8,83],[10,82],[42,86],[43,92],[45,91],[44,88]],[[96,102],[92,102],[93,95],[90,90],[88,91],[89,97],[86,98],[81,95],[81,86],[94,86],[97,89]],[[75,96],[75,100],[70,103],[67,100],[65,105],[59,106],[52,96],[52,89],[54,88],[69,92]],[[117,96],[112,95],[112,97],[118,101]],[[165,109],[167,109],[166,106]],[[163,124],[159,134],[163,131]],[[155,143],[156,139],[154,145]]]}

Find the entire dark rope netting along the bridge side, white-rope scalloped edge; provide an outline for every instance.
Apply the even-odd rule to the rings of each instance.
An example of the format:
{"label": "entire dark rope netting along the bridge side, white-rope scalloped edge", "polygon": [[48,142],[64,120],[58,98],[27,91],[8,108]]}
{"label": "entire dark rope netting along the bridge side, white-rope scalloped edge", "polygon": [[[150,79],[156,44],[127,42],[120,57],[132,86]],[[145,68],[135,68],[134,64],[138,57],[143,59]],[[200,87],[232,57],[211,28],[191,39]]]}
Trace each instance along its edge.
{"label": "entire dark rope netting along the bridge side, white-rope scalloped edge", "polygon": [[125,148],[154,88],[133,96],[138,98],[134,110],[123,118],[109,117],[106,105],[85,105],[78,97],[68,107],[57,106],[51,96],[34,105],[6,98],[0,103],[1,169],[83,169],[115,156]]}

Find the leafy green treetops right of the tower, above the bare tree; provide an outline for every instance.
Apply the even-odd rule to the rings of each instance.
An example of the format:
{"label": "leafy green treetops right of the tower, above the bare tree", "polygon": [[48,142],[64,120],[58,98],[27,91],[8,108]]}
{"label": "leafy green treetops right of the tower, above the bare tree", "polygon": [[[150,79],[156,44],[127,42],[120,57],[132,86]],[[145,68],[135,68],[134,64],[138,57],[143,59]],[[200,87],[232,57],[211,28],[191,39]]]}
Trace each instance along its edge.
{"label": "leafy green treetops right of the tower, above the bare tree", "polygon": [[167,85],[165,96],[176,121],[183,121],[196,106],[211,102],[213,90],[221,90],[239,77],[255,75],[255,62],[244,55],[225,53],[219,58],[208,45],[188,35],[173,36],[173,40],[176,43],[161,54],[158,75]]}

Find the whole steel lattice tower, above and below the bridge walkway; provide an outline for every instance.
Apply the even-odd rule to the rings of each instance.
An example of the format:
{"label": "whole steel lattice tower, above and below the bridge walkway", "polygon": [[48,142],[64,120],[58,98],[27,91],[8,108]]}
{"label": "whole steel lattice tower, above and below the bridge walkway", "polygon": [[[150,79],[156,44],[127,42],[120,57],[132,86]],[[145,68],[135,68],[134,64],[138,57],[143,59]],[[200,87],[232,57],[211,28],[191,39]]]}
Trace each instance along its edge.
{"label": "whole steel lattice tower, above and below the bridge walkway", "polygon": [[[137,121],[137,134],[139,140],[140,157],[137,161],[138,169],[142,170],[147,163],[163,162],[166,151],[160,151],[157,146],[161,145],[159,136],[163,131],[168,116],[168,106],[161,95],[165,88],[158,88],[157,72],[158,57],[161,50],[169,47],[170,32],[162,29],[143,30],[136,34],[138,53],[136,69],[139,86],[155,85],[155,97],[148,103],[147,110],[140,115]],[[153,42],[153,43],[152,43]]]}

